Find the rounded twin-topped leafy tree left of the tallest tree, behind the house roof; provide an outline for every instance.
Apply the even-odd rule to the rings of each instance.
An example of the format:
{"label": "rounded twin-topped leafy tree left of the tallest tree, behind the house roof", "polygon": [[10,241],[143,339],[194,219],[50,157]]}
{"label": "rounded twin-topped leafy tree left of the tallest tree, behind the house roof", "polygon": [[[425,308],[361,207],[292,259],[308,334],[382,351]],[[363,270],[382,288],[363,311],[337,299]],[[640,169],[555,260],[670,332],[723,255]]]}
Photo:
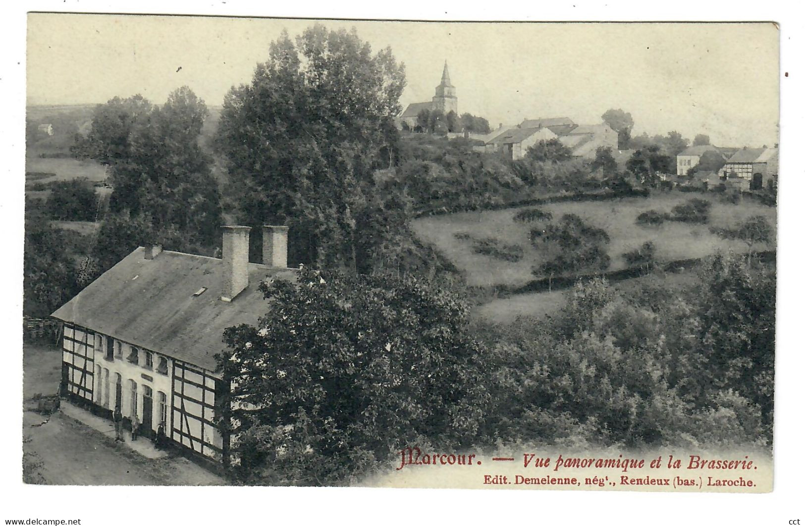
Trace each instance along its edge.
{"label": "rounded twin-topped leafy tree left of the tallest tree, behind the house roof", "polygon": [[157,108],[139,95],[115,97],[93,113],[74,153],[109,166],[109,208],[177,228],[203,245],[217,243],[221,204],[199,138],[208,110],[186,86]]}

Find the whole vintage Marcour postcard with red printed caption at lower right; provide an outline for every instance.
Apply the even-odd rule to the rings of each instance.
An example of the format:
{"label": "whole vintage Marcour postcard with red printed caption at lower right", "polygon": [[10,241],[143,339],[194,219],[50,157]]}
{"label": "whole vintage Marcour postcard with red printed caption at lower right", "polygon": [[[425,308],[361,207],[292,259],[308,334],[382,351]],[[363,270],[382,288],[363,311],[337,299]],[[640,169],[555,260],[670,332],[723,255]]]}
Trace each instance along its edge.
{"label": "whole vintage Marcour postcard with red printed caption at lower right", "polygon": [[773,490],[774,23],[27,23],[25,483]]}

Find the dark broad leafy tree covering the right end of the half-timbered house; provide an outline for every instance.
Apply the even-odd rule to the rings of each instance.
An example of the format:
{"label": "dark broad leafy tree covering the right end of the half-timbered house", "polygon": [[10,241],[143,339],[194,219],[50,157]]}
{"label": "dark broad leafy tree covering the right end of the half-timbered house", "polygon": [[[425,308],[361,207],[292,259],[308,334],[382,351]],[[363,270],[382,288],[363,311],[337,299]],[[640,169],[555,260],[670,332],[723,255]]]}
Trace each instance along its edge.
{"label": "dark broad leafy tree covering the right end of the half-timbered house", "polygon": [[[248,483],[347,483],[410,444],[467,447],[485,409],[468,309],[414,278],[302,269],[225,331],[219,422]],[[289,482],[290,481],[290,482]]]}

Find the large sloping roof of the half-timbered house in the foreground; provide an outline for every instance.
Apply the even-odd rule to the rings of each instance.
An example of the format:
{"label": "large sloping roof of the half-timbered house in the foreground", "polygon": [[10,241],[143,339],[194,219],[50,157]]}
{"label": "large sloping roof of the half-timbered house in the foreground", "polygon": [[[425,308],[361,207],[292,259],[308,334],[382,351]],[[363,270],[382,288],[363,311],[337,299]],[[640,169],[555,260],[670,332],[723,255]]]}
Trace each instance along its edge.
{"label": "large sloping roof of the half-timbered house in the foreground", "polygon": [[[213,355],[225,349],[224,329],[254,325],[268,306],[258,283],[291,269],[249,264],[249,286],[232,302],[221,301],[223,261],[164,251],[146,260],[142,247],[114,265],[52,315],[213,371]],[[194,296],[201,287],[207,290]]]}

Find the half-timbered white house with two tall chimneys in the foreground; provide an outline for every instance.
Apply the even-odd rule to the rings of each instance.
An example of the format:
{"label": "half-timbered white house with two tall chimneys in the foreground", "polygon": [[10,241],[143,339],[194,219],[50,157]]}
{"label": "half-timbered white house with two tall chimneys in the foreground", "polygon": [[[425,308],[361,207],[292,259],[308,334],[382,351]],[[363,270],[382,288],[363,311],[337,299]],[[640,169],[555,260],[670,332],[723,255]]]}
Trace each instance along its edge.
{"label": "half-timbered white house with two tall chimneys in the foreground", "polygon": [[225,226],[222,258],[146,244],[56,310],[63,323],[62,391],[101,416],[136,415],[190,454],[226,462],[216,417],[229,386],[216,372],[227,327],[266,313],[258,284],[295,277],[287,227],[264,226],[262,261],[250,263],[249,227]]}

